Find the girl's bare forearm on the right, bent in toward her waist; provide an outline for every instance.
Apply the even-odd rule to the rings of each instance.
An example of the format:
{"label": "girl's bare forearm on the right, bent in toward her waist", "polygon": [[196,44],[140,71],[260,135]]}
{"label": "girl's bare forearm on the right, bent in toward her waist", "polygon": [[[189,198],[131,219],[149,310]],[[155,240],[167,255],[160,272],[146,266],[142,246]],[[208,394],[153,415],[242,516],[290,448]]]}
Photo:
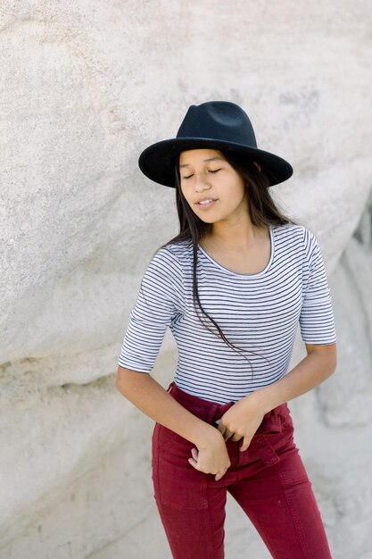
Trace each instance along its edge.
{"label": "girl's bare forearm on the right, bent in toward her waist", "polygon": [[263,413],[309,392],[326,380],[335,371],[335,346],[322,346],[319,350],[311,351],[292,371],[281,380],[260,388],[246,396],[254,400]]}

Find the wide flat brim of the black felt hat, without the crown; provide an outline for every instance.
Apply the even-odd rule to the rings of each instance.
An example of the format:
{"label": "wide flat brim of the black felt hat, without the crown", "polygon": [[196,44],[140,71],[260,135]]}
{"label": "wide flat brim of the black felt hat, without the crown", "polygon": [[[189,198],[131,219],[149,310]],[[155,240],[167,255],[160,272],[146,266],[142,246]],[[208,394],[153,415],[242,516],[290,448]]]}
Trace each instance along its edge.
{"label": "wide flat brim of the black felt hat, without the crown", "polygon": [[289,179],[293,174],[290,163],[278,155],[251,146],[242,146],[215,138],[173,138],[162,140],[147,147],[138,159],[138,165],[146,177],[165,187],[175,188],[174,165],[172,160],[189,149],[219,149],[245,154],[247,161],[255,161],[266,171],[269,186]]}

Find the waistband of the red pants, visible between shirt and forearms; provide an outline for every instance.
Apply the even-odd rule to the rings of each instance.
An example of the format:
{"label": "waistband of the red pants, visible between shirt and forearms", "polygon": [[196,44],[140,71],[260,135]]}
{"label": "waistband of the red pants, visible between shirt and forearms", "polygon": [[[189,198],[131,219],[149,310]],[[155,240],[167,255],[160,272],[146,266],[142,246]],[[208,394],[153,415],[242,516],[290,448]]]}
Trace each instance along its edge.
{"label": "waistband of the red pants, visible between shirt and forearms", "polygon": [[[175,382],[171,382],[167,389],[170,396],[178,401],[178,404],[183,405],[191,413],[194,413],[199,419],[207,421],[208,423],[215,423],[219,420],[227,410],[235,404],[235,402],[227,402],[226,404],[219,404],[217,402],[210,402],[203,400],[199,396],[188,394],[181,388],[178,388]],[[277,423],[278,415],[288,415],[288,406],[285,404],[278,405],[270,412],[265,413],[263,421],[270,420],[270,423]],[[216,424],[217,425],[217,424]]]}

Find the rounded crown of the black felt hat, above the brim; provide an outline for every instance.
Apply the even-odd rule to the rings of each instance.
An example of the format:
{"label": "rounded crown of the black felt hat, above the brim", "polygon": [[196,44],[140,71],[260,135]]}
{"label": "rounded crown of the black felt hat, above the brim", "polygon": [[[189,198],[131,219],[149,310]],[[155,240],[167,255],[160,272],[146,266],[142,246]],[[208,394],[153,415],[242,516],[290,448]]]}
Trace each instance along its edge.
{"label": "rounded crown of the black felt hat, above the brim", "polygon": [[228,101],[192,104],[178,129],[177,138],[216,139],[257,147],[248,115],[237,104]]}

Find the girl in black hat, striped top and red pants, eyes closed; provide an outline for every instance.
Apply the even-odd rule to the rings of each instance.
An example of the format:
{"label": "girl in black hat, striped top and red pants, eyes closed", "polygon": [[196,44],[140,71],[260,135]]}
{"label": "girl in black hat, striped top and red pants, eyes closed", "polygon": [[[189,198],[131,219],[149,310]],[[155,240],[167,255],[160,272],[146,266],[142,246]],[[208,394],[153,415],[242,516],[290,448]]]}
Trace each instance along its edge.
{"label": "girl in black hat, striped top and red pants, eyes closed", "polygon": [[[329,559],[286,405],[336,363],[317,239],[269,194],[292,167],[258,149],[248,116],[223,101],[191,106],[177,138],[139,166],[176,188],[180,233],[145,271],[117,388],[156,421],[154,496],[172,555],[224,557],[228,491],[273,557]],[[287,372],[298,324],[307,356]],[[178,366],[165,390],[149,373],[168,327]]]}

